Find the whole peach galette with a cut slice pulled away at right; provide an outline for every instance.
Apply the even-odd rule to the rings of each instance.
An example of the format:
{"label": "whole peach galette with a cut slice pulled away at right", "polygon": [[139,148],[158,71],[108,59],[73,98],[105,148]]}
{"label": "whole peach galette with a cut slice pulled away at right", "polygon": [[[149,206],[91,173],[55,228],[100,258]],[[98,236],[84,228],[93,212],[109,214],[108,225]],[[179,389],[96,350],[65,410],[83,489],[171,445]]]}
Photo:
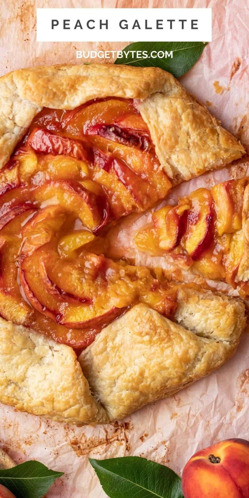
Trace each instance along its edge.
{"label": "whole peach galette with a cut slice pulled away at right", "polygon": [[[156,68],[54,66],[0,79],[0,401],[105,423],[234,354],[242,301],[107,258],[102,244],[108,224],[243,153]],[[215,224],[221,239],[240,232],[238,185],[229,222],[221,214],[218,226],[203,189],[158,211],[137,243],[177,253],[184,241],[200,261]]]}

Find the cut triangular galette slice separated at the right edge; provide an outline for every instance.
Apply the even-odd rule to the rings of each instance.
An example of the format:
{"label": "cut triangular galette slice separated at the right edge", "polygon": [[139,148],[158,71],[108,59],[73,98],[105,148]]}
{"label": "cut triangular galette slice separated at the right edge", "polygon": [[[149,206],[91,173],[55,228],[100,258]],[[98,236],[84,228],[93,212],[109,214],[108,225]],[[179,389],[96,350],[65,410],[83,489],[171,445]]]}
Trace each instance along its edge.
{"label": "cut triangular galette slice separated at the right edge", "polygon": [[247,183],[244,178],[210,190],[200,188],[177,206],[163,207],[136,234],[136,245],[152,254],[169,254],[183,267],[236,287],[244,250],[242,207]]}

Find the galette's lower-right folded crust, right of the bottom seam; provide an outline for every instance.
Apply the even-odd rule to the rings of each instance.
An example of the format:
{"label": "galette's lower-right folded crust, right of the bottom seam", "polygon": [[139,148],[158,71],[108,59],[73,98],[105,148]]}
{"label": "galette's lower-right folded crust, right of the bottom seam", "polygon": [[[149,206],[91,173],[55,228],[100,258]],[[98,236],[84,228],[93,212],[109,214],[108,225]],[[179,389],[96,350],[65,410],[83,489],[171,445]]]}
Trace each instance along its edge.
{"label": "galette's lower-right folded crust, right of the bottom seam", "polygon": [[235,353],[245,327],[242,302],[189,289],[180,291],[179,303],[176,319],[186,328],[138,304],[81,354],[111,419],[182,389]]}

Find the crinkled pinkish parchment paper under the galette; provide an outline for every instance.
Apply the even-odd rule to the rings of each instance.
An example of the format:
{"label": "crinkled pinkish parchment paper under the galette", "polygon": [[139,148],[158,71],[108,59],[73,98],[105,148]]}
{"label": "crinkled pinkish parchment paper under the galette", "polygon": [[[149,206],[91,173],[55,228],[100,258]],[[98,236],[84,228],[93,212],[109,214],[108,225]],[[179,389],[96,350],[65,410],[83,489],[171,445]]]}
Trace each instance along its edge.
{"label": "crinkled pinkish parchment paper under the galette", "polygon": [[[90,43],[37,43],[35,7],[212,7],[213,41],[202,58],[182,78],[189,91],[204,102],[222,124],[249,146],[247,0],[3,0],[0,19],[0,72],[20,66],[80,63],[75,50],[103,48]],[[123,44],[105,44],[118,49]],[[110,62],[110,61],[109,61]],[[244,164],[247,169],[247,164]],[[243,163],[189,182],[186,192],[241,174]],[[171,194],[175,199],[179,192]],[[132,220],[131,220],[132,221]],[[125,239],[126,225],[123,235]],[[122,243],[122,238],[121,238]],[[117,245],[119,240],[117,240]],[[137,256],[138,257],[138,256]],[[138,257],[139,260],[139,257]],[[88,457],[110,458],[140,455],[168,465],[180,473],[199,448],[228,438],[248,439],[249,334],[237,354],[217,373],[199,380],[173,397],[146,406],[122,422],[107,426],[73,426],[47,421],[0,406],[0,446],[17,462],[37,459],[65,472],[48,498],[102,498],[98,478]]]}

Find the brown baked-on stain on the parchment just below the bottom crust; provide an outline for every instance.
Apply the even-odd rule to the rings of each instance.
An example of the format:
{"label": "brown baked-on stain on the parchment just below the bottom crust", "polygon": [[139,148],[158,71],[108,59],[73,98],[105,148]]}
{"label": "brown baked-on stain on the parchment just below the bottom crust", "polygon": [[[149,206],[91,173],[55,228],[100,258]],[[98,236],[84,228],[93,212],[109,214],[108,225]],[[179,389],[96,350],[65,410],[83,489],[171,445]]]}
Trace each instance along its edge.
{"label": "brown baked-on stain on the parchment just below the bottom crust", "polygon": [[123,444],[125,451],[130,450],[129,433],[133,429],[130,422],[114,422],[108,426],[103,426],[104,432],[99,436],[93,435],[87,437],[82,433],[80,436],[69,438],[69,444],[78,457],[88,455],[90,452],[96,453],[103,451],[107,446],[113,443]]}

